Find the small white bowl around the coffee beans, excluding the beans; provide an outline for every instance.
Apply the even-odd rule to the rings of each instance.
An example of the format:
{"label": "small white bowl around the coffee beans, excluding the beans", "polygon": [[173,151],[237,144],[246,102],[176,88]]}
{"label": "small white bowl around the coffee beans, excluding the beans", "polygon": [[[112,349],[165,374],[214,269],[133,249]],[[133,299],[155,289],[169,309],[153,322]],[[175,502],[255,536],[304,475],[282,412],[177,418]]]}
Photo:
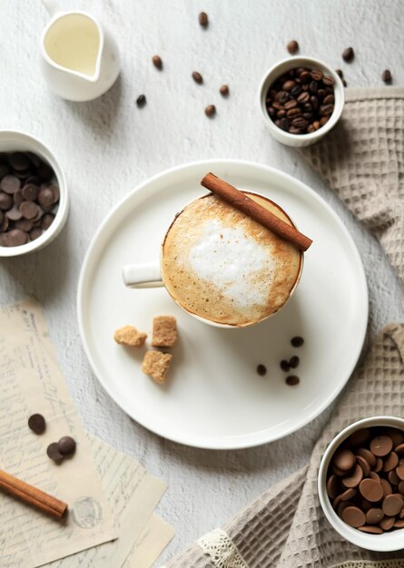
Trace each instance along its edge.
{"label": "small white bowl around the coffee beans, excluding the beans", "polygon": [[[266,107],[266,97],[271,84],[274,83],[278,77],[283,73],[295,69],[296,67],[309,67],[310,69],[320,69],[324,74],[330,75],[334,79],[334,111],[330,115],[328,122],[321,126],[319,130],[315,132],[310,132],[310,134],[291,134],[290,132],[285,132],[279,128],[275,122],[272,121],[270,115],[268,114]],[[344,85],[340,79],[340,76],[335,73],[327,64],[322,63],[318,59],[312,59],[310,57],[288,57],[283,59],[278,64],[275,64],[271,69],[264,74],[262,77],[260,87],[258,90],[258,103],[261,109],[261,115],[263,121],[268,126],[269,131],[272,136],[282,144],[287,146],[294,146],[295,148],[300,148],[302,146],[310,146],[315,142],[319,142],[321,138],[330,132],[330,130],[335,126],[335,124],[340,120],[340,115],[344,108]]]}

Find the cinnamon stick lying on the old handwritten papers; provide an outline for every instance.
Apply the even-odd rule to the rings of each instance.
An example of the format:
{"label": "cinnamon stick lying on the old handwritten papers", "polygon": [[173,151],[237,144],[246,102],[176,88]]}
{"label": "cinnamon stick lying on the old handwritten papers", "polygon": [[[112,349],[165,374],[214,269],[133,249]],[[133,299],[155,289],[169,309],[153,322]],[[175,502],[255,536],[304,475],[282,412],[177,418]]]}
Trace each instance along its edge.
{"label": "cinnamon stick lying on the old handwritten papers", "polygon": [[25,481],[18,479],[14,475],[5,473],[0,470],[0,489],[6,493],[15,495],[27,504],[31,504],[44,513],[51,514],[56,519],[61,519],[67,510],[67,503],[60,501],[34,487],[34,485],[26,484]]}

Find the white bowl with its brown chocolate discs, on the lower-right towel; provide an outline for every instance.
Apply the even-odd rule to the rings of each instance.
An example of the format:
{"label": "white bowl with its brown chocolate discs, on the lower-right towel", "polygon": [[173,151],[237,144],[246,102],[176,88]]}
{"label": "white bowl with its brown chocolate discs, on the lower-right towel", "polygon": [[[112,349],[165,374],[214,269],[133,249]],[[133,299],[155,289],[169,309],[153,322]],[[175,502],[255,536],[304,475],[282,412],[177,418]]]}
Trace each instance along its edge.
{"label": "white bowl with its brown chocolate discs, on the lower-right towel", "polygon": [[333,528],[368,550],[403,547],[404,420],[364,418],[336,436],[322,456],[320,504]]}

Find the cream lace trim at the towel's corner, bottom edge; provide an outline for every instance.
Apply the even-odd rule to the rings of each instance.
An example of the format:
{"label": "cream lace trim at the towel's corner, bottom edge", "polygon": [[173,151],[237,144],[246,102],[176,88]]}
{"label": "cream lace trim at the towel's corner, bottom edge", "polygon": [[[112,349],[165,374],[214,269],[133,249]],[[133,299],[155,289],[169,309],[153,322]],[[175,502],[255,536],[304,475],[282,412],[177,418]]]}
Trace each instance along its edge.
{"label": "cream lace trim at the towel's corner, bottom edge", "polygon": [[214,529],[210,533],[203,534],[197,544],[202,548],[203,553],[211,557],[212,563],[217,568],[249,568],[230,536],[222,529]]}

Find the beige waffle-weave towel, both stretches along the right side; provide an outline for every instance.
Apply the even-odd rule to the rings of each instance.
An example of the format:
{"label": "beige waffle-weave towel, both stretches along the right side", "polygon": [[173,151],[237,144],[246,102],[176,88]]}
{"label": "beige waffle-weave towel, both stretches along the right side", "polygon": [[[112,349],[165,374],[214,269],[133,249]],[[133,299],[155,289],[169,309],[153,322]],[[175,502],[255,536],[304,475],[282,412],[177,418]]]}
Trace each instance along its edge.
{"label": "beige waffle-weave towel, both stretches along the right side", "polygon": [[[380,240],[404,278],[404,89],[348,89],[338,126],[303,151]],[[261,495],[165,568],[404,568],[404,551],[371,553],[345,541],[320,508],[321,455],[342,428],[404,415],[404,324],[385,328],[350,379],[308,467]],[[404,548],[404,541],[403,541]]]}

